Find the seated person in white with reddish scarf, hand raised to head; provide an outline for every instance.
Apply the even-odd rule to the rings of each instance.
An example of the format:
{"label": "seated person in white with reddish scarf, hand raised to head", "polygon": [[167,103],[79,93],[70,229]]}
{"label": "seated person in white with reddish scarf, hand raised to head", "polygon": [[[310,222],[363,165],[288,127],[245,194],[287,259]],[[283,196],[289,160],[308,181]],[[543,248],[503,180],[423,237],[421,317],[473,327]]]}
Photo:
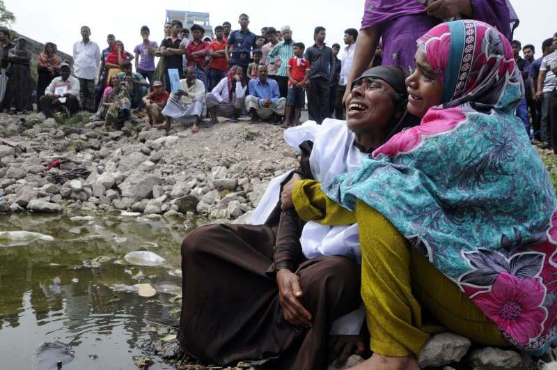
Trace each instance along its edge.
{"label": "seated person in white with reddish scarf, hand raised to head", "polygon": [[211,114],[211,125],[219,123],[217,116],[230,118],[230,122],[238,121],[244,107],[246,88],[244,70],[239,65],[234,65],[226,77],[205,95],[207,109]]}

